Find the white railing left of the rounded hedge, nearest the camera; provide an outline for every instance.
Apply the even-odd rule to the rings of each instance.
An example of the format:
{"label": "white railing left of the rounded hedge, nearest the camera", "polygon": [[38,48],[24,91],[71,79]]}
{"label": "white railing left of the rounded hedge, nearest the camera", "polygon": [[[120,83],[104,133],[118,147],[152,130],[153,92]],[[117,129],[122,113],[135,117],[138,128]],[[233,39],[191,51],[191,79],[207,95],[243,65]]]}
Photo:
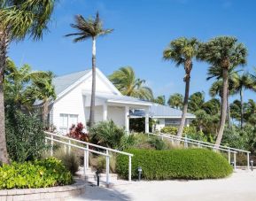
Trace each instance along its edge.
{"label": "white railing left of the rounded hedge, nearest the camera", "polygon": [[[115,153],[119,153],[119,154],[123,154],[123,155],[128,156],[128,181],[131,182],[131,169],[132,169],[132,160],[131,159],[133,157],[133,154],[128,153],[128,152],[124,152],[124,151],[114,150],[114,149],[107,148],[107,147],[104,147],[104,146],[100,146],[100,145],[97,145],[97,144],[94,144],[94,143],[86,143],[86,142],[83,142],[83,141],[80,141],[80,140],[76,140],[74,138],[67,137],[65,135],[53,134],[53,133],[46,132],[46,131],[44,133],[46,135],[50,135],[50,136],[45,137],[45,143],[47,143],[48,140],[50,141],[50,155],[51,156],[53,156],[53,143],[54,142],[66,144],[68,146],[68,152],[69,153],[71,151],[71,147],[74,147],[74,148],[77,148],[77,149],[80,149],[80,150],[84,151],[84,156],[83,156],[84,157],[84,166],[83,166],[84,174],[86,174],[86,169],[89,168],[89,152],[97,153],[99,155],[105,156],[105,173],[106,173],[106,184],[107,185],[110,184],[110,175],[109,175],[109,170],[110,170],[109,162],[110,162],[110,160],[109,159],[110,159],[111,155],[109,154],[109,152],[115,152]],[[54,137],[61,138],[63,140],[66,140],[67,142],[65,142],[63,140],[55,139]],[[74,144],[72,142],[84,144],[85,147]],[[95,150],[90,149],[90,147],[98,148],[98,149],[101,149],[105,152],[95,151]]]}

